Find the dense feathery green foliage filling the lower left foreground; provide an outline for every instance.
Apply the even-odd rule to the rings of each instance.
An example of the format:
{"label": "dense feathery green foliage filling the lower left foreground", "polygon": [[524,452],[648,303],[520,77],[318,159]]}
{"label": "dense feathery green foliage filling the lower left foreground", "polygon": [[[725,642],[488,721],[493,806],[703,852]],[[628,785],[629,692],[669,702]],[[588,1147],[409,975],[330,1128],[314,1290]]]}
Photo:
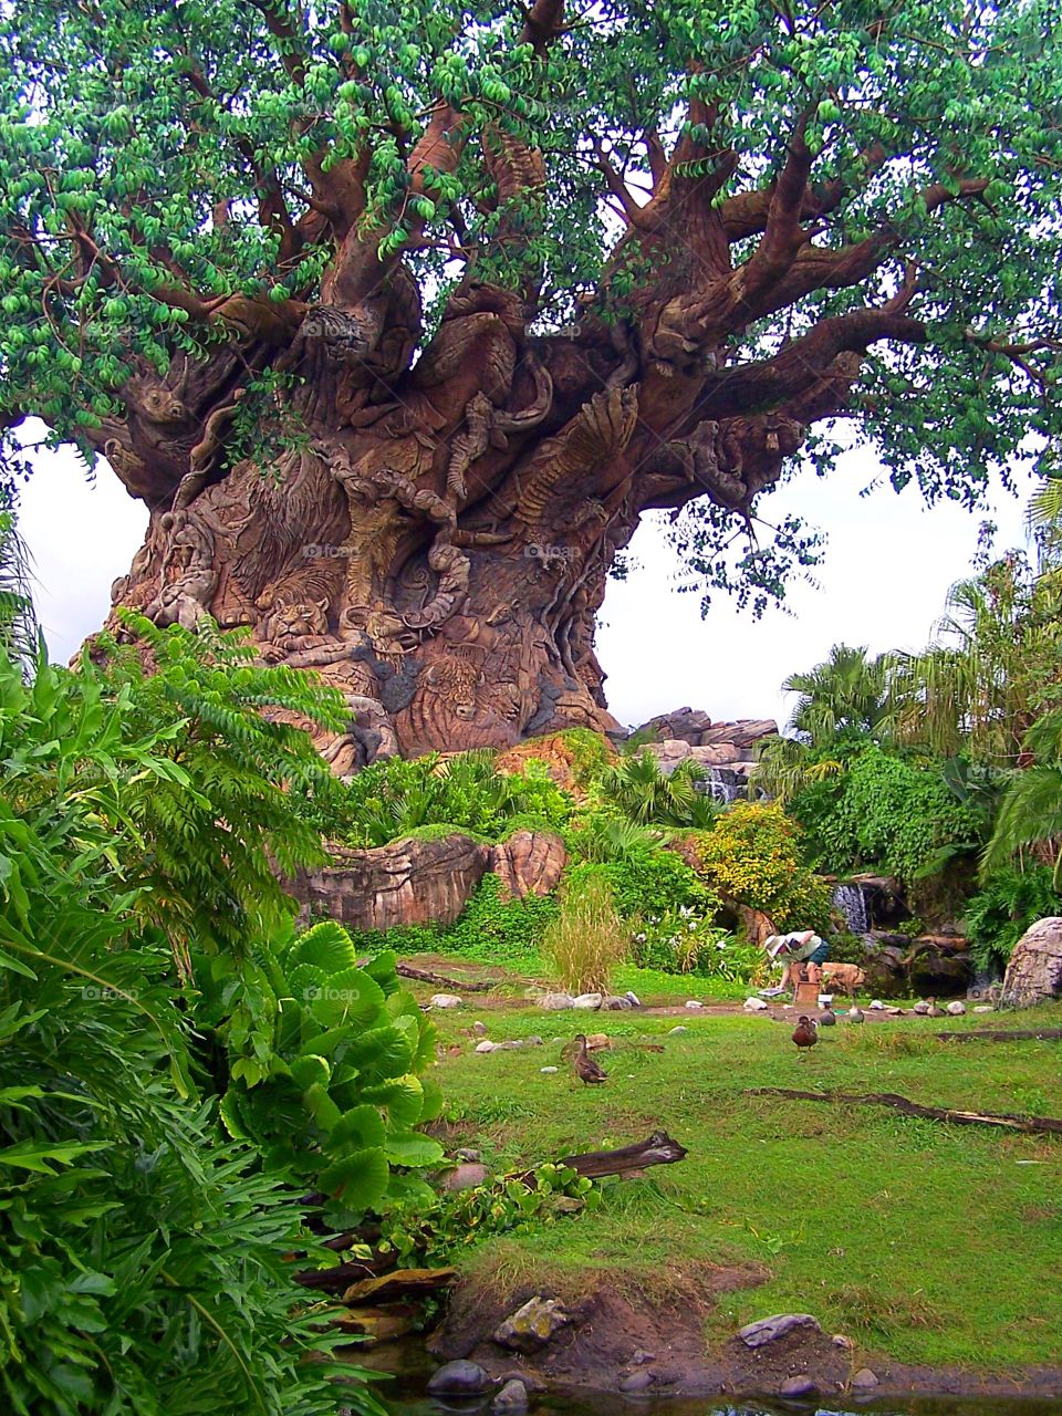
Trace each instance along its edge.
{"label": "dense feathery green foliage filling the lower left foreground", "polygon": [[[299,1191],[218,1143],[149,899],[136,801],[184,784],[208,811],[208,783],[174,760],[174,715],[139,724],[133,695],[88,663],[23,683],[0,657],[4,1409],[202,1416],[224,1392],[232,1410],[324,1416],[334,1368],[304,1357],[331,1342],[292,1311],[286,1256],[327,1253]],[[236,852],[252,821],[228,826]],[[350,1400],[374,1409],[358,1386]]]}

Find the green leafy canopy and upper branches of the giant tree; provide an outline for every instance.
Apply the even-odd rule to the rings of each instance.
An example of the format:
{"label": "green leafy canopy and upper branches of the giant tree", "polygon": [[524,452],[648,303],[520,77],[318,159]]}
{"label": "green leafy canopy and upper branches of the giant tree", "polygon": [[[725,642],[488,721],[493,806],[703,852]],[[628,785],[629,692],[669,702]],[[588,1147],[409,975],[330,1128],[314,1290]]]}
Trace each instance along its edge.
{"label": "green leafy canopy and upper branches of the giant tree", "polygon": [[[387,381],[474,273],[554,350],[593,362],[605,340],[599,387],[640,375],[656,446],[776,413],[765,466],[694,459],[695,487],[657,498],[691,504],[677,538],[709,581],[823,419],[854,416],[898,489],[974,503],[1059,425],[1059,18],[1058,0],[8,0],[0,425],[40,415],[101,452],[152,371],[218,343],[276,389],[330,307],[358,313]],[[820,470],[831,446],[806,442]],[[772,564],[743,569],[766,583]]]}

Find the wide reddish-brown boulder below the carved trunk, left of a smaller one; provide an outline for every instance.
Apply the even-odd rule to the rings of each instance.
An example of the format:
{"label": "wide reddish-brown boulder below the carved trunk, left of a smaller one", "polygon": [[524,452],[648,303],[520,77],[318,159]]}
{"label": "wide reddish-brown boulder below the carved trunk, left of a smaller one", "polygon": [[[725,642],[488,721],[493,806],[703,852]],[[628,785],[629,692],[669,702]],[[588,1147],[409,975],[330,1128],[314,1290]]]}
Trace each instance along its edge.
{"label": "wide reddish-brown boulder below the carved trunk, left of a smaller one", "polygon": [[300,871],[286,888],[303,916],[323,913],[355,930],[452,923],[487,874],[491,848],[455,831],[436,840],[391,841],[333,851],[334,865]]}

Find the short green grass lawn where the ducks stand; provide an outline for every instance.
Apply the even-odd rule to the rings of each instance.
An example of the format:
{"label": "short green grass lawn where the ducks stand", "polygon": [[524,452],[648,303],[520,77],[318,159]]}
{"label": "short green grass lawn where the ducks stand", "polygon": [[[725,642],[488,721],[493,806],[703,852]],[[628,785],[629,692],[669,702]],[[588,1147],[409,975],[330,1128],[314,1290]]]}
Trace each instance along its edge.
{"label": "short green grass lawn where the ducks stand", "polygon": [[[681,980],[678,993],[702,993]],[[470,1000],[470,1010],[474,1003]],[[841,1024],[797,1058],[765,1018],[596,1014],[613,1038],[609,1080],[581,1087],[559,1059],[585,1017],[527,1004],[483,1012],[496,1039],[541,1048],[472,1052],[473,1011],[439,1018],[462,1042],[439,1080],[449,1140],[497,1170],[623,1146],[664,1129],[678,1165],[610,1181],[592,1216],[487,1243],[484,1274],[534,1272],[558,1291],[610,1273],[647,1291],[698,1267],[755,1264],[766,1281],[719,1294],[708,1340],[772,1313],[814,1313],[868,1352],[927,1365],[1010,1369],[1058,1362],[1062,1331],[1062,1138],[748,1096],[755,1086],[899,1092],[936,1106],[1062,1116],[1058,1042],[953,1044],[933,1034],[990,1024],[1062,1025],[1061,1008],[949,1020]],[[666,1051],[637,1048],[663,1041]],[[539,1068],[559,1065],[554,1075]],[[545,1280],[544,1280],[545,1281]],[[593,1280],[599,1281],[599,1280]]]}

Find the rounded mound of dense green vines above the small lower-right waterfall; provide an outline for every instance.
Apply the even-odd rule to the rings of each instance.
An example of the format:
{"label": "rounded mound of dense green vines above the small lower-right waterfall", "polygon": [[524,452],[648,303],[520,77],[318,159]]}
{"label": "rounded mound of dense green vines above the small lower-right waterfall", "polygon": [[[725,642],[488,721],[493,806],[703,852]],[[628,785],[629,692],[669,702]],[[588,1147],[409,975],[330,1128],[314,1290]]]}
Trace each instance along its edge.
{"label": "rounded mound of dense green vines above the small lower-right waterfall", "polygon": [[843,776],[799,792],[792,810],[814,864],[878,867],[906,882],[976,851],[988,824],[980,801],[949,790],[939,762],[875,743],[850,753]]}

